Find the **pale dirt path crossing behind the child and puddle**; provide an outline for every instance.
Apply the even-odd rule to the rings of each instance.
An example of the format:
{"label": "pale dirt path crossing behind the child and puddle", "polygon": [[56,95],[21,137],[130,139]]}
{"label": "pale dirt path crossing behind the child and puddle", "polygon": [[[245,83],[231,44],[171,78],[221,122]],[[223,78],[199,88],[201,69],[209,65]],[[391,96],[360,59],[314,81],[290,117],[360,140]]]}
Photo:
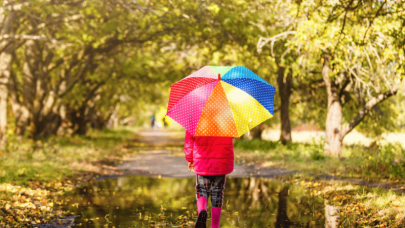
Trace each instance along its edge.
{"label": "pale dirt path crossing behind the child and puddle", "polygon": [[[193,178],[195,174],[187,168],[187,162],[182,156],[184,143],[183,132],[168,130],[145,130],[134,139],[144,149],[139,154],[127,159],[125,163],[117,166],[123,175],[143,175],[153,177]],[[264,177],[279,179],[298,171],[281,169],[277,167],[260,167],[235,164],[230,177]],[[405,193],[403,186],[392,183],[371,182],[361,179],[340,178],[330,175],[313,175],[315,180],[344,181],[366,187],[379,187],[387,190]]]}

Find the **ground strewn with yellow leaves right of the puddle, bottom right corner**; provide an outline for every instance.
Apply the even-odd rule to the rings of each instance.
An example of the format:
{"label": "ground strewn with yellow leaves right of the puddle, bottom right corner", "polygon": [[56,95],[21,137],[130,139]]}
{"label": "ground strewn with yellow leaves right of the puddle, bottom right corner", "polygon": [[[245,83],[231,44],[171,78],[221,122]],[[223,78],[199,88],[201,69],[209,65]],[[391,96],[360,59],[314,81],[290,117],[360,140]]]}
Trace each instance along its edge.
{"label": "ground strewn with yellow leaves right of the puddle, bottom right corner", "polygon": [[405,196],[341,182],[292,180],[330,205],[339,207],[341,227],[404,227]]}

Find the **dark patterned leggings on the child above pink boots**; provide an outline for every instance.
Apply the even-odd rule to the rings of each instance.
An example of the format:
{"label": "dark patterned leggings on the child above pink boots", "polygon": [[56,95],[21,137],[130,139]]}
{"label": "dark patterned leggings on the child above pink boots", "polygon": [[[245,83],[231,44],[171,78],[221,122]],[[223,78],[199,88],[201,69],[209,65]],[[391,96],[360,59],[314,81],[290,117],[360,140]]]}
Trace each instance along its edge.
{"label": "dark patterned leggings on the child above pink boots", "polygon": [[201,176],[197,175],[196,185],[197,200],[201,196],[208,199],[211,194],[212,207],[222,207],[225,190],[225,175]]}

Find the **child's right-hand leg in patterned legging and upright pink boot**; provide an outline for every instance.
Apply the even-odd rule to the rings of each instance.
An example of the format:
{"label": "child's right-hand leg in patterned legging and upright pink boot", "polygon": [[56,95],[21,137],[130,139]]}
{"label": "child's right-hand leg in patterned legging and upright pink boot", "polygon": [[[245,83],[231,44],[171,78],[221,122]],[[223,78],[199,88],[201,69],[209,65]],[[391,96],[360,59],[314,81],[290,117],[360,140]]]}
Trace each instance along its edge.
{"label": "child's right-hand leg in patterned legging and upright pink boot", "polygon": [[211,228],[219,228],[224,190],[225,175],[215,176],[211,188]]}

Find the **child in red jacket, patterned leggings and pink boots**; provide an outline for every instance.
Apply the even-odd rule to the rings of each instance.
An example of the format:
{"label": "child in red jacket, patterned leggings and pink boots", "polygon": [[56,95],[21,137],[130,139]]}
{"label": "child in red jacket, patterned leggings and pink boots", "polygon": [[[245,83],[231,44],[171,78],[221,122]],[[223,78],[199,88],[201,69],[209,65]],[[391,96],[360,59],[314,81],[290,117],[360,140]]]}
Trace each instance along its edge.
{"label": "child in red jacket, patterned leggings and pink boots", "polygon": [[218,228],[225,190],[225,175],[233,171],[233,138],[196,136],[186,132],[184,153],[188,169],[197,175],[198,219],[196,228],[206,228],[208,197],[211,194],[211,228]]}

